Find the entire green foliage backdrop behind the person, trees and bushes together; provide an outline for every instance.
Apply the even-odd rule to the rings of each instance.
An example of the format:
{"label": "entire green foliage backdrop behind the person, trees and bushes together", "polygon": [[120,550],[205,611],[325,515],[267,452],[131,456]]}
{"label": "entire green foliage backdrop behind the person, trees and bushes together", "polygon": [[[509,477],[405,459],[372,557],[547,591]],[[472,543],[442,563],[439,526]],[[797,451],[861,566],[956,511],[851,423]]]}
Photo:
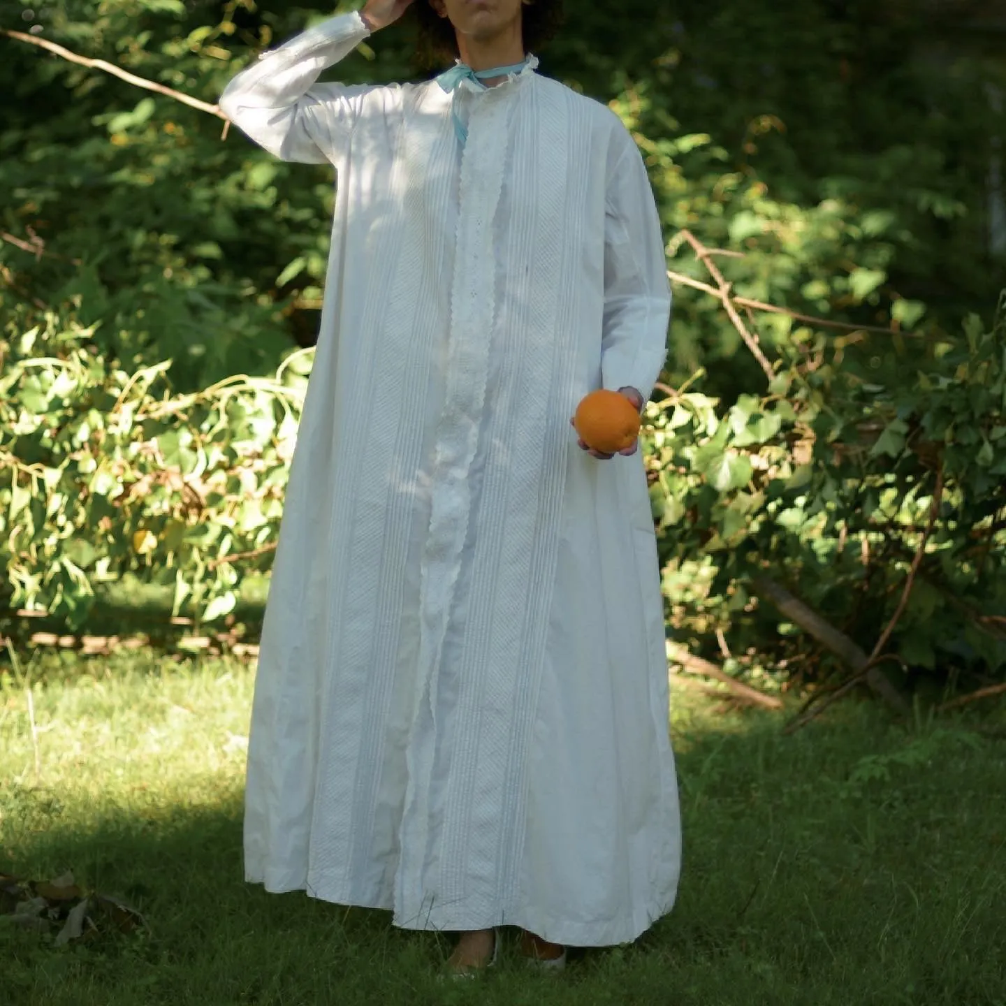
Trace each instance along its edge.
{"label": "entire green foliage backdrop behind the person, trees and bushes together", "polygon": [[[24,18],[9,26],[208,103],[258,50],[332,12],[15,2]],[[1002,330],[962,329],[1002,285],[987,178],[1006,116],[984,97],[1006,82],[1001,63],[974,33],[945,33],[955,58],[935,53],[929,5],[897,0],[567,9],[541,68],[633,131],[681,278],[665,373],[677,390],[651,405],[645,437],[672,631],[700,645],[727,632],[731,670],[815,671],[753,598],[760,572],[869,650],[939,465],[941,512],[892,645],[910,667],[1001,666]],[[5,54],[11,589],[79,623],[96,580],[129,570],[170,580],[179,611],[219,617],[275,544],[301,390],[292,366],[270,375],[315,337],[331,171],[279,163],[236,131],[221,138],[213,116],[26,43]],[[409,19],[338,75],[416,78]],[[683,228],[728,253],[715,262],[733,295],[783,309],[741,308],[771,387],[695,289],[709,277]],[[836,335],[794,313],[894,334]]]}

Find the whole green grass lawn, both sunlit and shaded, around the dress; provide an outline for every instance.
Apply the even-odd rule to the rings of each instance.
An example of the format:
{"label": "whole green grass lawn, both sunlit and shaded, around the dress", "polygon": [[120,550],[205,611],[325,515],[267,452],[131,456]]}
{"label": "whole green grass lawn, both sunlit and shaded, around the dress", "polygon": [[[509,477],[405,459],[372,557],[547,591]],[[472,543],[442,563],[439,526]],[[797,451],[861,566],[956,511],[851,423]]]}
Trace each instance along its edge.
{"label": "whole green grass lawn, both sunlit and shaded, around the dress", "polygon": [[0,870],[70,869],[150,931],[57,949],[0,921],[0,1003],[1006,1004],[1001,706],[905,730],[846,702],[786,737],[779,715],[676,689],[674,911],[564,976],[526,975],[508,948],[487,980],[445,987],[447,937],[242,882],[249,668],[141,651],[25,671],[38,772],[8,674]]}

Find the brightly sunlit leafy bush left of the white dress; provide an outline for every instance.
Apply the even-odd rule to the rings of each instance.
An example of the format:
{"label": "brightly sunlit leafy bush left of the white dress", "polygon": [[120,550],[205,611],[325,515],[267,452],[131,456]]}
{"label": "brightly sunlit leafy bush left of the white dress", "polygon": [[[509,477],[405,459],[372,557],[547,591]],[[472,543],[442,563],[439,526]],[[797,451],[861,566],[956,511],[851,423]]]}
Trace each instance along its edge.
{"label": "brightly sunlit leafy bush left of the white dress", "polygon": [[239,576],[275,546],[313,350],[274,378],[232,375],[186,394],[171,391],[170,360],[128,373],[73,319],[48,315],[3,351],[11,603],[78,627],[94,585],[132,572],[172,584],[176,615],[229,614]]}

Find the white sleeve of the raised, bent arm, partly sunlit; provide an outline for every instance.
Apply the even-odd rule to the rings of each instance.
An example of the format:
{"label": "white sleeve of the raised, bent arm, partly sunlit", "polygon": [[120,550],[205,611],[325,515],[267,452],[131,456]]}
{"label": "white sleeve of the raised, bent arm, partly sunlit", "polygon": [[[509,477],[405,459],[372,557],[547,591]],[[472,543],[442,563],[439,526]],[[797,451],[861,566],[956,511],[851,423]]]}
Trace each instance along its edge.
{"label": "white sleeve of the raised, bent arm, partly sunlit", "polygon": [[333,161],[376,87],[315,81],[369,34],[357,13],[309,28],[237,73],[220,96],[221,111],[285,161]]}

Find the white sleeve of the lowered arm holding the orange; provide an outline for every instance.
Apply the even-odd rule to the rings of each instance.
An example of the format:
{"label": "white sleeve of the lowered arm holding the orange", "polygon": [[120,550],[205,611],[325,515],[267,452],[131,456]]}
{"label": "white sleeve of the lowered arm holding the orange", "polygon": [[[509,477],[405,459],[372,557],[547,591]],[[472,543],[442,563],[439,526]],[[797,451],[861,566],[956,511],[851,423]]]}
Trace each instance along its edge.
{"label": "white sleeve of the lowered arm holding the orange", "polygon": [[649,399],[667,357],[671,288],[660,217],[632,137],[613,144],[605,220],[605,319],[601,372],[606,388],[631,385]]}

